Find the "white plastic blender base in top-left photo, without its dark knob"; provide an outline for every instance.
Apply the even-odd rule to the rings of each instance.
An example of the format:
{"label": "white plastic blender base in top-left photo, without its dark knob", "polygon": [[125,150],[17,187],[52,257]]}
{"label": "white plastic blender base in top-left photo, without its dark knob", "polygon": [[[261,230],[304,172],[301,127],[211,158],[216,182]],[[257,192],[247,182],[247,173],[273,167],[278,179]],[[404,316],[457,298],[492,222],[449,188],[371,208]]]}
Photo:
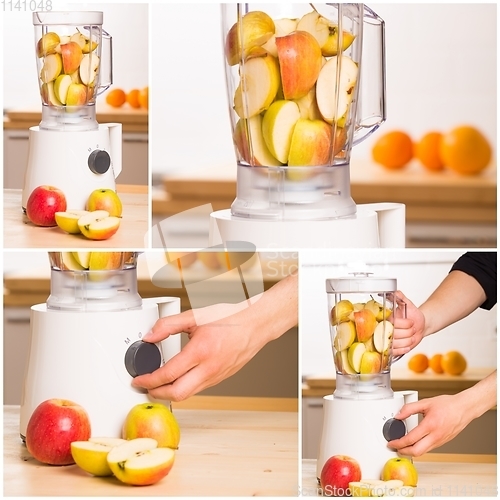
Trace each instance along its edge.
{"label": "white plastic blender base in top-left photo, without its dark knob", "polygon": [[[107,172],[96,174],[88,166],[94,150],[109,153]],[[24,177],[22,208],[38,186],[51,185],[62,190],[68,209],[85,210],[95,189],[116,190],[115,179],[122,170],[122,125],[100,124],[96,130],[56,131],[29,129],[28,164]]]}

